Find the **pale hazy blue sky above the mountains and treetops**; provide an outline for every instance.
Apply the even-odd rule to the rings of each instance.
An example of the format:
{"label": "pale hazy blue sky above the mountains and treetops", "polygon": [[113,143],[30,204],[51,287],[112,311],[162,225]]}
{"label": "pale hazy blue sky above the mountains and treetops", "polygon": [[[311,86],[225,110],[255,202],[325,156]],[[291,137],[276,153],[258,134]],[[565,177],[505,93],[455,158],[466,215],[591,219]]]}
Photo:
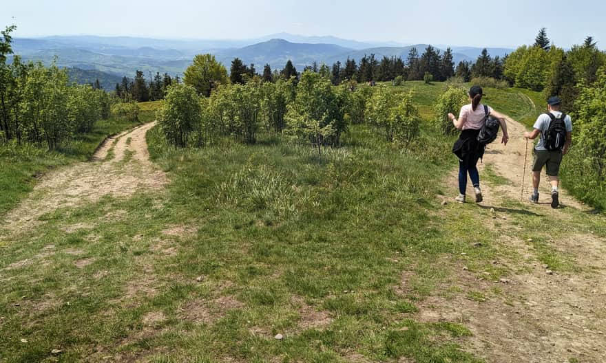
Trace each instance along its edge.
{"label": "pale hazy blue sky above the mountains and treetops", "polygon": [[3,0],[0,26],[16,36],[98,34],[249,39],[276,32],[397,41],[515,47],[541,27],[556,45],[592,35],[606,47],[601,0]]}

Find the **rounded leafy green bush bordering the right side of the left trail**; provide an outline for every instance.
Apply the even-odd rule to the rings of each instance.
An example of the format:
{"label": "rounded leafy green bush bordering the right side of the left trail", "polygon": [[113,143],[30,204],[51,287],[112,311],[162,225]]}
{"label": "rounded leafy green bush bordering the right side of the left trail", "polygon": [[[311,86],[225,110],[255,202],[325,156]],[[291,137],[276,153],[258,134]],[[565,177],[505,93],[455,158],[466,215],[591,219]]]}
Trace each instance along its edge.
{"label": "rounded leafy green bush bordering the right side of the left trail", "polygon": [[189,135],[200,123],[201,112],[196,89],[189,85],[174,85],[168,89],[158,111],[158,124],[171,144],[185,147]]}

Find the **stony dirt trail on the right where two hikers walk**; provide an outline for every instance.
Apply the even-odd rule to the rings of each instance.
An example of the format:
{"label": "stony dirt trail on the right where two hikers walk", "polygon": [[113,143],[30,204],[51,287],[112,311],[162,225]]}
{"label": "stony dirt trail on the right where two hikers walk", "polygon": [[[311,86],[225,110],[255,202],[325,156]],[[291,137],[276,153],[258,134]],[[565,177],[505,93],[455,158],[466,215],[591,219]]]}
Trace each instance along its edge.
{"label": "stony dirt trail on the right where two hikers walk", "polygon": [[[465,294],[444,298],[437,293],[426,300],[419,318],[466,325],[474,333],[471,349],[486,362],[569,362],[571,358],[578,362],[606,362],[606,269],[603,263],[606,239],[587,233],[586,228],[572,221],[571,214],[585,206],[565,190],[560,193],[562,208],[550,207],[550,185],[544,173],[540,203],[533,205],[527,201],[532,182],[532,142],[527,144],[523,208],[503,208],[512,199],[520,199],[526,145],[522,124],[508,120],[508,129],[509,144],[491,144],[479,167],[481,177],[487,175],[486,168],[490,167],[508,182],[495,186],[481,181],[484,195],[481,205],[485,209],[494,208],[499,216],[485,223],[486,228],[501,236],[501,241],[494,242],[495,246],[522,256],[521,261],[497,261],[511,270],[512,275],[505,283],[488,281],[481,271],[461,273],[463,265],[454,263],[456,277],[449,286],[485,292],[489,297],[480,302]],[[448,184],[450,195],[446,200],[454,202],[458,189],[455,173],[450,175]],[[472,186],[468,188],[468,197],[473,199]],[[507,217],[510,213],[539,215],[545,219],[545,225],[570,226],[570,233],[554,236],[546,243],[572,259],[578,272],[548,274],[536,256],[532,241],[516,236],[516,232],[532,235],[533,231],[522,230],[519,223],[512,221],[515,219],[512,215],[509,219],[501,218],[501,214]],[[491,294],[494,289],[501,290],[501,294]]]}

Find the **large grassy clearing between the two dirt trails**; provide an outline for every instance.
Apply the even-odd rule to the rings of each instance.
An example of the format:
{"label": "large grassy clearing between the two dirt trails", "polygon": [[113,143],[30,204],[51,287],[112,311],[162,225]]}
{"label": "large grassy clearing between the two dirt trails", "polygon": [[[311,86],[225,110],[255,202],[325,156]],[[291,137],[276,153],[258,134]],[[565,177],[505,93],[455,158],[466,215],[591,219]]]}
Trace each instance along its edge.
{"label": "large grassy clearing between the two dirt trails", "polygon": [[[405,85],[427,107],[443,87]],[[606,235],[578,211],[547,235],[515,201],[441,206],[456,162],[428,122],[410,149],[353,126],[322,159],[269,134],[200,150],[157,127],[147,139],[167,190],[59,208],[1,247],[0,361],[481,362],[467,327],[419,318],[426,297],[501,296],[475,282],[523,268],[504,234],[532,238],[555,271],[576,261],[551,239]]]}

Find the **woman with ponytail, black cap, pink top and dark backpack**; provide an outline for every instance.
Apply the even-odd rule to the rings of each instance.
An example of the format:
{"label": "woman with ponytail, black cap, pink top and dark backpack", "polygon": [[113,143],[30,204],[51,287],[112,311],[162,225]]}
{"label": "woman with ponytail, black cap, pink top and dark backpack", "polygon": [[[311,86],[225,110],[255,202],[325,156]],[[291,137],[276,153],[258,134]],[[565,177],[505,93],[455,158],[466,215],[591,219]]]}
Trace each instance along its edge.
{"label": "woman with ponytail, black cap, pink top and dark backpack", "polygon": [[482,190],[480,189],[480,175],[478,173],[478,160],[484,155],[484,146],[477,141],[478,133],[484,124],[486,110],[493,118],[497,118],[503,128],[503,138],[501,143],[507,145],[509,135],[507,133],[507,123],[505,115],[494,111],[494,109],[481,104],[482,87],[473,86],[469,90],[470,104],[461,107],[459,119],[454,117],[452,113],[448,113],[448,118],[452,120],[454,127],[461,130],[459,140],[454,143],[452,152],[459,157],[459,197],[455,198],[460,203],[465,203],[465,193],[467,189],[467,175],[474,186],[476,192],[476,203],[482,201]]}

